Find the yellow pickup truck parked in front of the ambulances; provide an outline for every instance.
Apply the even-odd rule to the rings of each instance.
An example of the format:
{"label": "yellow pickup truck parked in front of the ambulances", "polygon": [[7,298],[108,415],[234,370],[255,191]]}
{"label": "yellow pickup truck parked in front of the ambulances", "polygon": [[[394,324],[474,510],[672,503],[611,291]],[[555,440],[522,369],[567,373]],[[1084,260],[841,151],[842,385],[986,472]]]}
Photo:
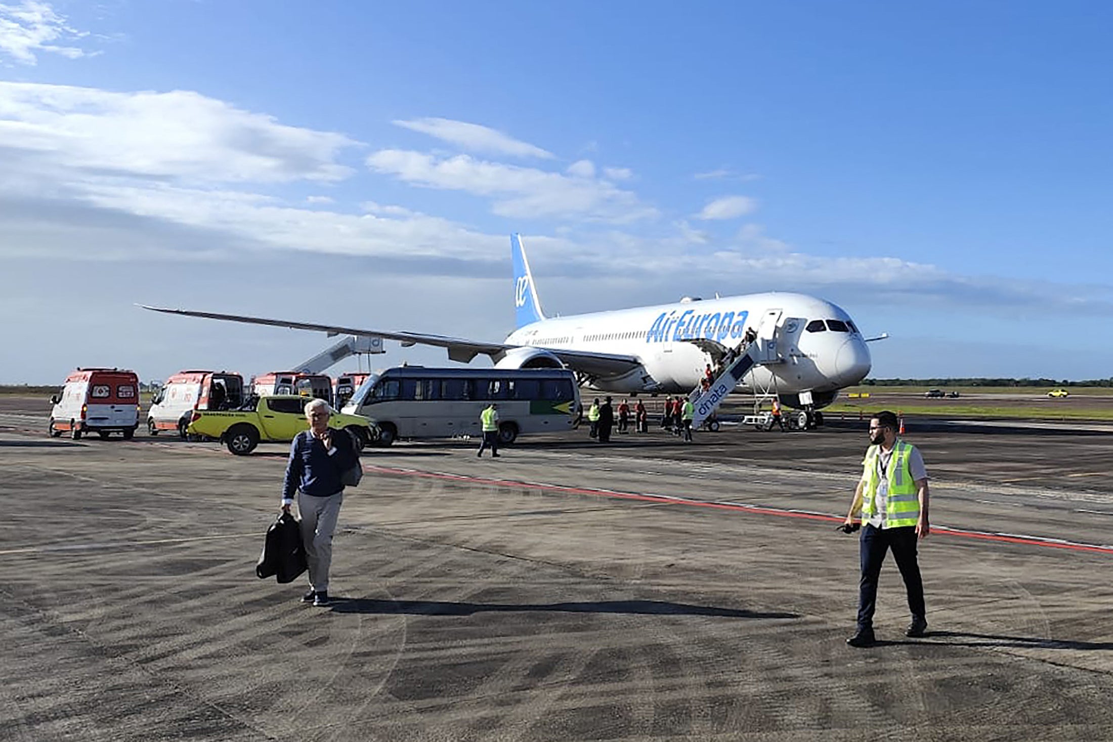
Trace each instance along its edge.
{"label": "yellow pickup truck parked in front of the ambulances", "polygon": [[[186,428],[189,436],[215,438],[236,456],[247,456],[259,441],[289,441],[309,429],[305,397],[273,394],[253,397],[236,410],[195,410]],[[328,427],[346,430],[356,448],[378,440],[378,428],[362,414],[333,412]]]}

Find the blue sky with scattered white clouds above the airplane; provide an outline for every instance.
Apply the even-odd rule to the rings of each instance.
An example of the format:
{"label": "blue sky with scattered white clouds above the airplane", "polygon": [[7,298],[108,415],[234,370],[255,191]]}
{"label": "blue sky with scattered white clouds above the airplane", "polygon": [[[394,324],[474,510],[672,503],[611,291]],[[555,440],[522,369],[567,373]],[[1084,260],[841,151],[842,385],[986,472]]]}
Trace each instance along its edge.
{"label": "blue sky with scattered white clouds above the airplane", "polygon": [[0,383],[327,342],[135,302],[501,340],[510,232],[550,312],[802,291],[893,335],[875,377],[1107,378],[1111,21],[0,0]]}

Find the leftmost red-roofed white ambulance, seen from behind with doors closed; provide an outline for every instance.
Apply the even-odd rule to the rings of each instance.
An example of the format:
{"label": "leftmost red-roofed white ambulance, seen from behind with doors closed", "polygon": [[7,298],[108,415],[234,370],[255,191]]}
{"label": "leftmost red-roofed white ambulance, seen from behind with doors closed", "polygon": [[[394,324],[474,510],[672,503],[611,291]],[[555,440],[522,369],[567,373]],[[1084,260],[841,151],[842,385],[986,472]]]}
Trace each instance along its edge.
{"label": "leftmost red-roofed white ambulance, seen from behind with doors closed", "polygon": [[139,427],[139,377],[120,369],[78,369],[66,379],[61,394],[50,398],[50,435],[77,440],[83,433],[130,440]]}

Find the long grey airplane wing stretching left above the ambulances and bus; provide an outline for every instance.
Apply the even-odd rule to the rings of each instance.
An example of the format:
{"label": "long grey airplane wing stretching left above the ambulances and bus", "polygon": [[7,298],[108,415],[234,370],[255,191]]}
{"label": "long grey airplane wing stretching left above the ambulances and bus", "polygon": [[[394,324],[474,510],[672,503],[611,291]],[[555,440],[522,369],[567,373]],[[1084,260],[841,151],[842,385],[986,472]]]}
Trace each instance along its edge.
{"label": "long grey airplane wing stretching left above the ambulances and bus", "polygon": [[[227,322],[246,322],[248,324],[266,324],[272,328],[290,328],[293,330],[312,330],[326,332],[329,335],[370,335],[374,338],[385,338],[397,340],[403,345],[435,345],[449,351],[449,358],[453,361],[467,363],[476,355],[483,354],[498,361],[506,351],[523,345],[506,345],[504,343],[479,343],[462,338],[447,338],[445,335],[429,335],[417,332],[388,332],[383,330],[367,330],[365,328],[345,328],[334,324],[316,324],[313,322],[294,322],[290,320],[270,320],[258,316],[243,316],[239,314],[219,314],[217,312],[196,312],[193,310],[167,309],[162,306],[147,306],[138,304],[141,309],[165,314],[181,314],[184,316],[199,316],[207,320],[224,320]],[[569,368],[587,373],[591,377],[610,377],[627,373],[641,365],[641,361],[633,355],[619,355],[615,353],[592,353],[587,351],[563,350],[559,348],[539,348],[552,353]]]}

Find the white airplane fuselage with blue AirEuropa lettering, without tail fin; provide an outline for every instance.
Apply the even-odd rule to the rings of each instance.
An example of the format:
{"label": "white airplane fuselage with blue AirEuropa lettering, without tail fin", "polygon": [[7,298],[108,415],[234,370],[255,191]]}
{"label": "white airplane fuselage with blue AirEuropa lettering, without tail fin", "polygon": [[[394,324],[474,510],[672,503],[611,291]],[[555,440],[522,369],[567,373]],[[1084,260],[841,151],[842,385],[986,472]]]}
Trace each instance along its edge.
{"label": "white airplane fuselage with blue AirEuropa lettering, without tail fin", "polygon": [[686,393],[699,384],[710,360],[690,341],[712,340],[732,348],[749,329],[771,339],[774,353],[742,379],[742,391],[812,391],[833,399],[834,392],[869,373],[869,350],[850,316],[828,301],[795,293],[690,300],[545,319],[519,328],[505,342],[634,355],[642,363],[640,369],[620,377],[599,377],[592,384],[615,393]]}

